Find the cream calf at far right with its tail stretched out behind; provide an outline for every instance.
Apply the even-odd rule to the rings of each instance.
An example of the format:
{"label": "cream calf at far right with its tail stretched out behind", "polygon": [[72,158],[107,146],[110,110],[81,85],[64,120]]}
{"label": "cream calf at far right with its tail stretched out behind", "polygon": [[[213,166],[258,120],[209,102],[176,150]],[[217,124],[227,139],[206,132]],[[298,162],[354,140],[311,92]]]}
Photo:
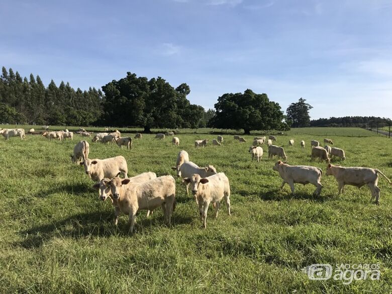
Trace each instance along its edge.
{"label": "cream calf at far right with its tail stretched out behind", "polygon": [[339,165],[328,164],[327,175],[333,175],[338,182],[339,194],[344,192],[344,185],[357,186],[358,188],[368,185],[371,192],[371,199],[375,198],[378,204],[380,197],[380,188],[377,186],[378,174],[382,175],[389,184],[390,180],[378,169],[368,167],[343,167]]}

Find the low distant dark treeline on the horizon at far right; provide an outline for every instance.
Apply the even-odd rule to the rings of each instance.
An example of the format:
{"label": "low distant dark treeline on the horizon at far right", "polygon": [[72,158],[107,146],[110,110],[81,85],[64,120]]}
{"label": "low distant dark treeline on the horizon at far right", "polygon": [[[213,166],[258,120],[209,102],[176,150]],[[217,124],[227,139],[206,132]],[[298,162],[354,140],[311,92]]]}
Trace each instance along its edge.
{"label": "low distant dark treeline on the horizon at far right", "polygon": [[389,119],[380,117],[342,117],[318,119],[310,122],[311,127],[359,127],[359,128],[375,128],[389,125]]}

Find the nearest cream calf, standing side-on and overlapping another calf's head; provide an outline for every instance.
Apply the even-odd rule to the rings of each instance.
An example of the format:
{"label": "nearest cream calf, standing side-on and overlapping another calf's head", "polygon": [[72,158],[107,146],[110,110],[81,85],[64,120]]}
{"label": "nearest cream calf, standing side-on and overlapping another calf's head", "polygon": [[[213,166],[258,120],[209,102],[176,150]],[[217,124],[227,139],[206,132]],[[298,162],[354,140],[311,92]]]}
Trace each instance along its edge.
{"label": "nearest cream calf, standing side-on and overlapping another calf's head", "polygon": [[[134,231],[136,213],[139,210],[152,211],[162,207],[165,224],[171,225],[171,215],[175,209],[175,180],[171,175],[164,175],[143,183],[130,179],[114,177],[103,179],[100,185],[110,188],[115,207],[114,223],[117,226],[120,212],[129,216],[129,232]],[[100,197],[106,198],[106,189],[101,189]]]}

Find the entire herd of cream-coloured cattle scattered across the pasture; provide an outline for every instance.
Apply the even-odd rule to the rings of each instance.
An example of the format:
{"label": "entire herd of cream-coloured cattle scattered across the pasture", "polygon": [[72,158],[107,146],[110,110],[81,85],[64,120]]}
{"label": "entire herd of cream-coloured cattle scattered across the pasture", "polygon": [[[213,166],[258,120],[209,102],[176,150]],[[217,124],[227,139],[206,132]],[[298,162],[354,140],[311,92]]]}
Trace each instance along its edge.
{"label": "entire herd of cream-coloured cattle scattered across the pasture", "polygon": [[[34,130],[30,130],[32,132]],[[25,139],[24,129],[0,129],[0,133],[6,140],[9,137],[18,136]],[[80,128],[78,132],[83,137],[91,137],[91,134]],[[43,132],[42,136],[49,140],[58,139],[64,140],[69,138],[73,140],[73,133],[68,130],[57,132]],[[179,145],[179,138],[174,137],[174,132],[167,132],[166,134],[156,134],[155,138],[165,139],[165,136],[172,137],[172,144]],[[142,134],[137,133],[134,139],[142,139]],[[244,143],[246,140],[240,136],[234,136],[239,143]],[[194,141],[194,147],[207,146],[208,139]],[[223,137],[218,136],[213,139],[213,145],[222,146]],[[254,137],[252,145],[249,147],[251,160],[260,162],[263,156],[262,146],[268,145],[268,157],[273,158],[278,156],[287,159],[283,147],[273,145],[277,141],[275,136]],[[119,131],[112,133],[98,133],[92,138],[92,142],[109,143],[115,142],[118,146],[127,146],[132,148],[131,137],[121,137]],[[324,139],[324,143],[333,145],[330,139]],[[294,140],[288,141],[288,146],[294,146]],[[300,142],[300,146],[305,148],[305,141]],[[382,175],[389,184],[392,182],[378,169],[366,167],[343,167],[340,165],[332,165],[330,157],[337,156],[345,159],[345,152],[343,149],[330,147],[326,145],[324,148],[320,146],[318,141],[311,141],[311,158],[319,158],[325,160],[327,165],[326,175],[333,175],[338,182],[339,194],[344,192],[345,185],[354,185],[361,187],[368,185],[371,191],[371,199],[379,203],[380,189],[377,186],[378,174]],[[157,177],[154,172],[145,172],[137,176],[128,178],[127,161],[123,156],[116,156],[107,159],[89,159],[89,143],[86,140],[78,142],[71,154],[72,163],[83,165],[84,171],[89,178],[95,181],[93,188],[99,191],[100,199],[105,201],[110,199],[115,211],[114,222],[117,225],[120,213],[125,213],[129,216],[130,232],[134,231],[136,221],[136,213],[139,210],[147,210],[147,216],[158,207],[161,207],[164,214],[166,225],[170,226],[171,216],[176,206],[175,200],[175,180],[171,175],[164,175]],[[182,182],[186,184],[186,194],[189,193],[189,187],[194,196],[195,202],[199,208],[199,213],[202,219],[203,227],[207,226],[207,211],[210,203],[215,208],[215,217],[218,217],[220,209],[220,202],[224,199],[228,214],[230,215],[230,183],[229,179],[223,172],[217,172],[213,165],[200,167],[197,164],[189,161],[189,155],[185,150],[181,150],[176,159],[176,165],[172,167],[176,171],[177,176],[182,178]],[[294,194],[294,184],[308,184],[311,183],[316,186],[314,195],[320,195],[323,185],[320,180],[323,174],[321,168],[314,166],[303,165],[289,165],[286,162],[277,161],[272,167],[273,170],[279,172],[284,184],[288,184]],[[123,178],[119,176],[123,175]]]}

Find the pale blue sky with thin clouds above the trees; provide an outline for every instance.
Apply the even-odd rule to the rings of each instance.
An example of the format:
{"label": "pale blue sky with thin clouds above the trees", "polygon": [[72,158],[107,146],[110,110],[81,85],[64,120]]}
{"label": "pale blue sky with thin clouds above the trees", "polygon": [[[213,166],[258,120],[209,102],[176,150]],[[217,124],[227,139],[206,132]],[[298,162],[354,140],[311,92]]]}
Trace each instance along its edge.
{"label": "pale blue sky with thin clouds above the trees", "polygon": [[47,85],[131,71],[186,82],[191,103],[250,88],[311,117],[392,109],[391,0],[2,1],[0,63]]}

